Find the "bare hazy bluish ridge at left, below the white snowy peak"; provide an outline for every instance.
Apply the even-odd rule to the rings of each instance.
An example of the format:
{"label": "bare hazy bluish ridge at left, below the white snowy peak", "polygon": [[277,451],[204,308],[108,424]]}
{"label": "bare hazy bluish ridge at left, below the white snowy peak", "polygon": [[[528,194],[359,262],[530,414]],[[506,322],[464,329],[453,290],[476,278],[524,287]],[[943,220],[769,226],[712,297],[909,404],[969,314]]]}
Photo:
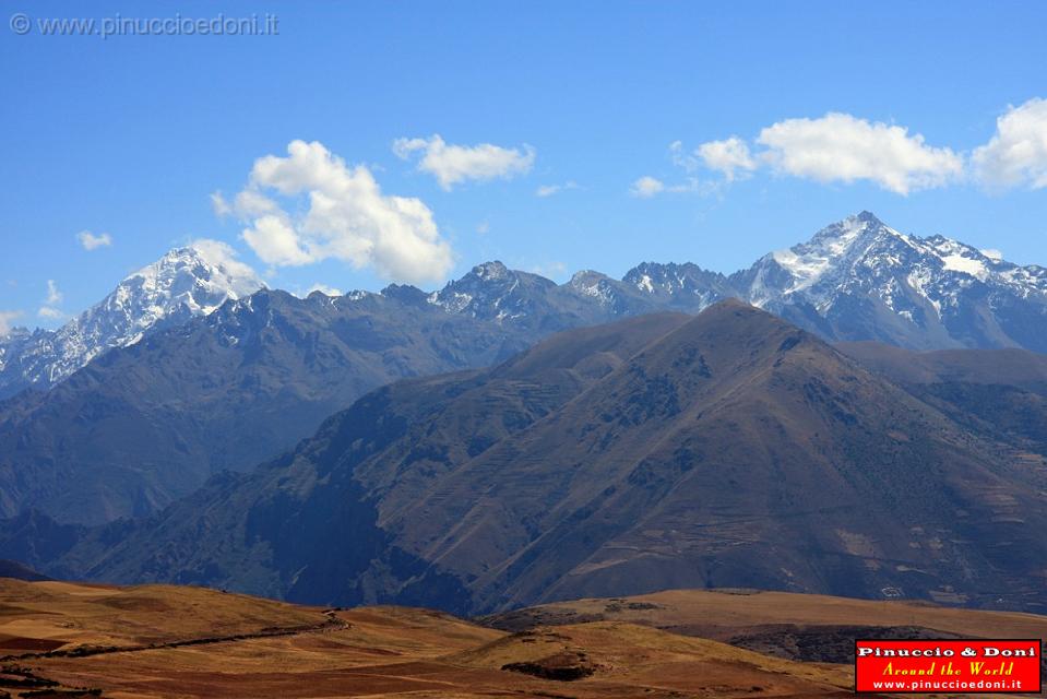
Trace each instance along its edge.
{"label": "bare hazy bluish ridge at left, below the white snowy peak", "polygon": [[0,513],[148,514],[213,473],[289,448],[368,390],[524,346],[395,295],[261,291],[0,404]]}

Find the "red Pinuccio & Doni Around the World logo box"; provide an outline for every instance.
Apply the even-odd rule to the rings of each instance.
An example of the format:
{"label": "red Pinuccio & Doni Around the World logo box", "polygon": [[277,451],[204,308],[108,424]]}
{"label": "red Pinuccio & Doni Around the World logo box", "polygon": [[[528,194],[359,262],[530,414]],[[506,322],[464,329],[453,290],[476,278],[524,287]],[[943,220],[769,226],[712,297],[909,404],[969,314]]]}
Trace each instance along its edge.
{"label": "red Pinuccio & Doni Around the World logo box", "polygon": [[1037,694],[1037,639],[855,641],[855,691]]}

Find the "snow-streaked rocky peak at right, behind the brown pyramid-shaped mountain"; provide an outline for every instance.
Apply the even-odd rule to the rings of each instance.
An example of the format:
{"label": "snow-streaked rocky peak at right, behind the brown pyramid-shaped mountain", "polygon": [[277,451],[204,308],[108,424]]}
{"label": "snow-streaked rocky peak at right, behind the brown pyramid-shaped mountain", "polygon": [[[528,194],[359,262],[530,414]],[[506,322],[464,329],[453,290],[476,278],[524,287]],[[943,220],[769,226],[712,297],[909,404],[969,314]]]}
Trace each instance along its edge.
{"label": "snow-streaked rocky peak at right, behind the brown pyramid-shaped mountain", "polygon": [[[1021,325],[1047,316],[1047,274],[987,252],[941,235],[907,235],[862,212],[730,280],[751,304],[840,339],[1008,346]],[[1025,301],[1033,305],[1014,310]],[[1012,312],[1022,320],[1004,318]]]}

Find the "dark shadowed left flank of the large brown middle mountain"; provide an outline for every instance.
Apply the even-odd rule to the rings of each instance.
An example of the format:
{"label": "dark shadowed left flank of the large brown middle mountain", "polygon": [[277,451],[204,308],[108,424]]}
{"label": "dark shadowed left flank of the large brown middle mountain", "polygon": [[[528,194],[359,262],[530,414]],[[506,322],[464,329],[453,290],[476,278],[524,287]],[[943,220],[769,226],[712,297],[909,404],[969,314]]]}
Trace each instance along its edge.
{"label": "dark shadowed left flank of the large brown middle mountain", "polygon": [[[150,521],[98,529],[75,545],[75,537],[62,538],[48,550],[48,569],[67,578],[464,612],[469,600],[461,584],[379,525],[374,494],[426,489],[688,319],[650,315],[572,331],[491,370],[383,388],[250,475],[215,478]],[[370,489],[360,483],[365,474]],[[398,502],[409,516],[412,501]]]}

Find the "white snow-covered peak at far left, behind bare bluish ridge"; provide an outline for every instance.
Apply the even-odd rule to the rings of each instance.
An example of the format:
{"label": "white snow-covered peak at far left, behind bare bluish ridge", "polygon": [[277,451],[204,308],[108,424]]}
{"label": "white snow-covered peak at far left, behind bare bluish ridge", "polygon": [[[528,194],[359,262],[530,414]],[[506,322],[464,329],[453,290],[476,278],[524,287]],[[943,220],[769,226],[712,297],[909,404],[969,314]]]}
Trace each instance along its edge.
{"label": "white snow-covered peak at far left, behind bare bluish ridge", "polygon": [[0,394],[10,393],[11,387],[57,383],[107,350],[206,316],[226,300],[262,287],[254,270],[223,242],[199,240],[170,250],[128,275],[100,303],[58,330],[37,331],[16,344],[8,343]]}

